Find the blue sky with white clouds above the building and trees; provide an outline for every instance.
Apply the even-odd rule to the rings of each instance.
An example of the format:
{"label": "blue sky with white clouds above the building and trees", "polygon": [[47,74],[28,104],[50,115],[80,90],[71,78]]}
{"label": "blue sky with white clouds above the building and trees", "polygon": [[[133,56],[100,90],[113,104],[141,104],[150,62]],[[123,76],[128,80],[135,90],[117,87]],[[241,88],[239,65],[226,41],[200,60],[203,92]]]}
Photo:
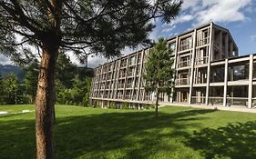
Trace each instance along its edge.
{"label": "blue sky with white clouds above the building and trees", "polygon": [[[156,40],[161,36],[170,38],[212,21],[230,30],[240,55],[256,54],[256,0],[183,1],[181,12],[170,24],[162,24],[160,20],[154,21],[156,28],[149,35],[151,39]],[[132,52],[134,51],[125,49],[123,54]],[[76,57],[70,57],[77,64]],[[105,58],[89,57],[88,66],[96,67],[106,61]],[[0,64],[9,63],[8,58],[0,55]]]}

